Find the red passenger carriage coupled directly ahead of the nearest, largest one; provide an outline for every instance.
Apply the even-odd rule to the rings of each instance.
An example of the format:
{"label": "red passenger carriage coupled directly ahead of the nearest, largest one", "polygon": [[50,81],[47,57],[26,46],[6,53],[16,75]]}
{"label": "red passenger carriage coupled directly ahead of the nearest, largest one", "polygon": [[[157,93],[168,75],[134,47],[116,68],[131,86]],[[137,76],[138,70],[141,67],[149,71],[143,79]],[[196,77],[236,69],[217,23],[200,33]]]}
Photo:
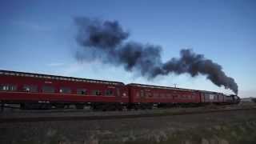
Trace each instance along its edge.
{"label": "red passenger carriage coupled directly ahead of the nearest, largest one", "polygon": [[127,87],[130,93],[130,102],[137,106],[174,106],[181,103],[191,105],[198,104],[201,100],[198,90],[135,83],[129,84]]}

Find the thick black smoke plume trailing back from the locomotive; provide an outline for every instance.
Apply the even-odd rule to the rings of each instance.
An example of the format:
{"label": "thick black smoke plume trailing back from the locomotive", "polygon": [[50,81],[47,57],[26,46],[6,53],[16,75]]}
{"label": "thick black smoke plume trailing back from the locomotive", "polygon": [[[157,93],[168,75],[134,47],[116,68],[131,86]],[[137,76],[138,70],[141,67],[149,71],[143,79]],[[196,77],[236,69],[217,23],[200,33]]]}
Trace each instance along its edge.
{"label": "thick black smoke plume trailing back from the locomotive", "polygon": [[167,62],[161,60],[161,46],[127,42],[129,33],[123,30],[117,21],[101,21],[99,19],[75,18],[78,26],[77,41],[83,47],[77,54],[78,59],[100,59],[102,62],[121,65],[128,71],[137,70],[146,78],[158,75],[198,74],[206,75],[217,86],[224,86],[238,94],[238,85],[234,78],[227,77],[222,66],[195,54],[190,49],[180,51],[180,58],[171,58]]}

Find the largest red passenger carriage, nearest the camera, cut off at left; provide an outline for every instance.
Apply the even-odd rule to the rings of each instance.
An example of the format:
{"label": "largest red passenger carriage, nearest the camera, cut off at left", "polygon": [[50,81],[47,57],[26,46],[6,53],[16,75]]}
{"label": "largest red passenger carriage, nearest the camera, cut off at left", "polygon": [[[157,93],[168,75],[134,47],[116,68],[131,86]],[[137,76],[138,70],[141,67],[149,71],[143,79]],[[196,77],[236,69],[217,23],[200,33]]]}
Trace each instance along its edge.
{"label": "largest red passenger carriage, nearest the camera, cut off at left", "polygon": [[[41,106],[65,106],[72,103],[77,108],[84,105],[120,108],[128,103],[126,86],[85,78],[72,78],[46,74],[0,71],[0,100],[5,103],[41,103]],[[42,105],[42,103],[45,103]],[[107,107],[107,106],[106,106]]]}

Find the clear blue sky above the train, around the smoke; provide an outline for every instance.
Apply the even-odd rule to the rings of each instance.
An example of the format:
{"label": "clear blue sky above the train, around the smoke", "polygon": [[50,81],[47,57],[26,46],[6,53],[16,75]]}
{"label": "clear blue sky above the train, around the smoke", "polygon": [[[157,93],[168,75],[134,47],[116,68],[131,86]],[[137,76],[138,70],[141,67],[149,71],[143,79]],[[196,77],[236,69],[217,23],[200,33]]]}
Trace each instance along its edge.
{"label": "clear blue sky above the train, around the smoke", "polygon": [[70,1],[1,0],[0,69],[140,82],[161,86],[230,90],[214,86],[205,76],[188,74],[153,81],[101,62],[74,58],[76,17],[117,20],[130,40],[162,46],[162,61],[191,48],[223,67],[238,83],[242,97],[256,93],[256,1]]}

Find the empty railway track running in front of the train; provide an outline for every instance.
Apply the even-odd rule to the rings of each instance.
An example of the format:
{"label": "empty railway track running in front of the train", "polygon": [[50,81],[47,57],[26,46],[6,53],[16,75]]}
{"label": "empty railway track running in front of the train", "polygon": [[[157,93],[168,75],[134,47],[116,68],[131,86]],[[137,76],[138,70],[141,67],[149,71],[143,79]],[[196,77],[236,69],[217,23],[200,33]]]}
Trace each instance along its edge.
{"label": "empty railway track running in front of the train", "polygon": [[164,113],[149,113],[149,114],[114,114],[114,115],[91,115],[91,116],[43,116],[43,117],[18,117],[18,118],[0,118],[0,123],[13,122],[54,122],[54,121],[90,121],[90,120],[107,120],[107,119],[124,119],[124,118],[154,118],[166,117],[172,115],[186,114],[207,114],[207,113],[225,113],[230,111],[256,110],[256,107],[237,108],[225,110],[197,110],[197,111],[178,111]]}

